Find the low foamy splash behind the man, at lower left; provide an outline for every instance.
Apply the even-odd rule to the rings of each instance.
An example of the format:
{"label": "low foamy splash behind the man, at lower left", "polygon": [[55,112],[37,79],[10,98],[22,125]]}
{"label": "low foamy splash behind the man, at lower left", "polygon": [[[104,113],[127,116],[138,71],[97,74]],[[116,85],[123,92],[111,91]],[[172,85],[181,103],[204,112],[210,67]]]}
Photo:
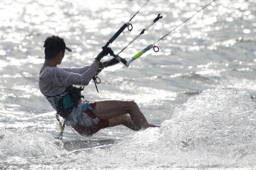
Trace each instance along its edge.
{"label": "low foamy splash behind the man, at lower left", "polygon": [[21,129],[0,132],[1,166],[27,166],[35,160],[44,162],[61,157],[63,145],[46,132],[28,133]]}

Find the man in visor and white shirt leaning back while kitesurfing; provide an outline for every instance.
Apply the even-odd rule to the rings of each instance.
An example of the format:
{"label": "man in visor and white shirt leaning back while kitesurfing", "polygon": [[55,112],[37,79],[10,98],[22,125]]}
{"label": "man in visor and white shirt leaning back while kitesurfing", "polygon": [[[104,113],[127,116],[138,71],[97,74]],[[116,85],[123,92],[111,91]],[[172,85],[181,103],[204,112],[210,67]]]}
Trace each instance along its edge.
{"label": "man in visor and white shirt leaning back while kitesurfing", "polygon": [[[134,101],[82,102],[81,87],[87,86],[98,69],[106,62],[100,60],[108,55],[102,51],[90,66],[80,68],[59,68],[65,55],[63,38],[52,35],[44,41],[45,61],[39,75],[39,89],[47,98],[57,114],[65,119],[79,134],[91,136],[106,127],[125,125],[131,130],[159,127],[149,124]],[[108,48],[108,50],[111,50]],[[110,63],[114,65],[118,63]],[[58,119],[58,118],[57,118]]]}

